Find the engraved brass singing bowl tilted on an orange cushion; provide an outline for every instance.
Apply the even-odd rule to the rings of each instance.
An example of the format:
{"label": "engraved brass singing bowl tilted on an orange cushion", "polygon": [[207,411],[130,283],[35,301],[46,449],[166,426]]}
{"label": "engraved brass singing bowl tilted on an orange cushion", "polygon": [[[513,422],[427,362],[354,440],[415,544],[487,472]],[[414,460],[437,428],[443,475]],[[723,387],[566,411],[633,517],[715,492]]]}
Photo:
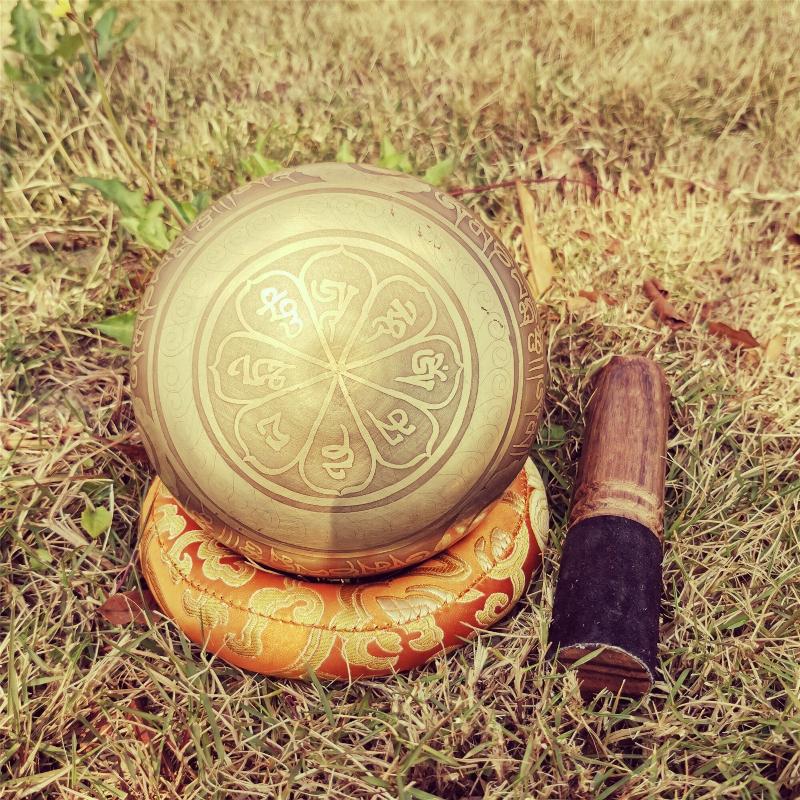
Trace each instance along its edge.
{"label": "engraved brass singing bowl tilted on an orange cushion", "polygon": [[211,206],[147,287],[131,362],[169,490],[231,549],[318,577],[465,534],[522,469],[545,373],[495,236],[416,178],[349,164]]}

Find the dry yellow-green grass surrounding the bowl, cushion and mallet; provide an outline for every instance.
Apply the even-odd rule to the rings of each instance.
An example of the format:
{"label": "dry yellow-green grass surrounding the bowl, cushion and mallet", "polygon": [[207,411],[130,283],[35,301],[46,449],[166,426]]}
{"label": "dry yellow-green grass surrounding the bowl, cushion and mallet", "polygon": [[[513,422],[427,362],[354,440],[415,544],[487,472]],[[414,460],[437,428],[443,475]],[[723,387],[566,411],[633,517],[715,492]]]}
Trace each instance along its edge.
{"label": "dry yellow-green grass surrounding the bowl, cushion and mallet", "polygon": [[[127,148],[77,67],[49,99],[3,86],[0,795],[798,796],[800,5],[120,6],[134,15],[102,66]],[[557,267],[541,574],[460,652],[352,685],[244,674],[160,616],[107,624],[104,599],[139,585],[151,476],[126,348],[89,323],[135,308],[159,254],[76,179],[146,189],[129,150],[189,201],[233,188],[257,137],[289,165],[345,139],[375,161],[384,136],[420,173],[453,156],[450,190],[613,190],[532,187]],[[513,188],[463,199],[524,262]],[[687,328],[653,317],[648,275]],[[704,303],[769,347],[713,336]],[[674,396],[663,680],[585,704],[544,643],[588,380],[616,352],[658,358]],[[97,538],[87,500],[113,512]]]}

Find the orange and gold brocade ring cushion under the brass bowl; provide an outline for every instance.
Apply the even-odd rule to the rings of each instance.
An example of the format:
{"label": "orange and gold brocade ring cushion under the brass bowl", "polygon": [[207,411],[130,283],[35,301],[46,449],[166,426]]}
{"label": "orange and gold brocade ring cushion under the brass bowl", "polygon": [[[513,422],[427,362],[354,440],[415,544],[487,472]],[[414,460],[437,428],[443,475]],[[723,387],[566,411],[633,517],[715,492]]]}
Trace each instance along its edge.
{"label": "orange and gold brocade ring cushion under the brass bowl", "polygon": [[192,641],[255,672],[350,679],[411,669],[505,616],[541,562],[547,500],[528,461],[449,549],[352,583],[255,566],[201,529],[158,478],[140,532],[147,583]]}

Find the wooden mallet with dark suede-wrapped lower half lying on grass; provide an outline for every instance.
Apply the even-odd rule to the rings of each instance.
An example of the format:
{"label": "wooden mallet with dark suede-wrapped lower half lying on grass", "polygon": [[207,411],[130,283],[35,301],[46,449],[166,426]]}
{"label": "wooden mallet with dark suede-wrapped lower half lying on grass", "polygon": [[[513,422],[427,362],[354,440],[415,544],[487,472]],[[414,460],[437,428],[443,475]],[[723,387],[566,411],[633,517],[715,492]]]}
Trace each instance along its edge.
{"label": "wooden mallet with dark suede-wrapped lower half lying on grass", "polygon": [[612,358],[589,400],[550,626],[550,655],[579,662],[584,694],[655,680],[668,422],[658,364]]}

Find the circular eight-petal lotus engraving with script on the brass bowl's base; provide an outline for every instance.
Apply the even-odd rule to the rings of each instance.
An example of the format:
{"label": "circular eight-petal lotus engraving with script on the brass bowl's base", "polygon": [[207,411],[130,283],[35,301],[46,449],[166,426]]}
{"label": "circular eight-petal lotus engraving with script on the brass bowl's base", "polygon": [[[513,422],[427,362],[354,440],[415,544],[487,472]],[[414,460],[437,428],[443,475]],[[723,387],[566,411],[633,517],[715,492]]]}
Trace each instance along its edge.
{"label": "circular eight-petal lotus engraving with script on the brass bowl's base", "polygon": [[363,242],[306,241],[236,274],[198,351],[204,424],[231,467],[320,509],[420,485],[472,411],[477,365],[457,299]]}

